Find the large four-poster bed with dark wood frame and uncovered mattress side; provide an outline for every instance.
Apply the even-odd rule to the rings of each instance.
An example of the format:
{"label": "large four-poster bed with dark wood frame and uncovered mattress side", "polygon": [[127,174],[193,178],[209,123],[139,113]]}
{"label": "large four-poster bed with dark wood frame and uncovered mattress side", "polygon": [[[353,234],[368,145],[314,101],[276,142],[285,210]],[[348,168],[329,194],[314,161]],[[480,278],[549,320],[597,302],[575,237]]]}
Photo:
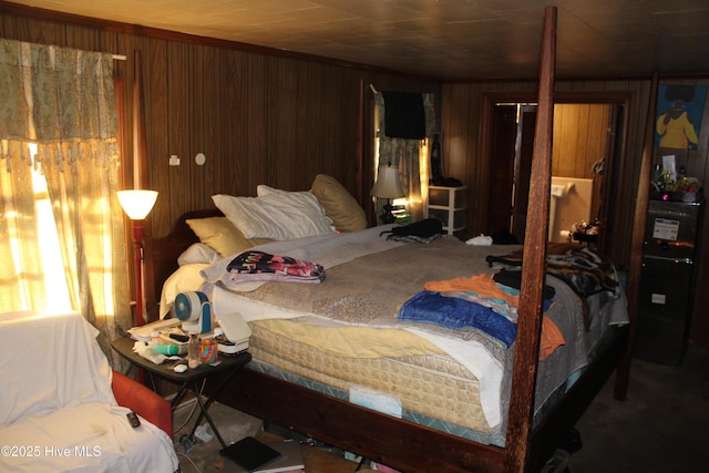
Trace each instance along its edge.
{"label": "large four-poster bed with dark wood frame and uncovered mattress side", "polygon": [[[220,402],[404,472],[541,469],[626,359],[630,332],[621,285],[579,298],[557,276],[546,276],[554,23],[555,10],[547,9],[530,191],[530,202],[547,206],[530,213],[524,247],[474,247],[454,238],[392,243],[380,235],[388,228],[379,227],[251,240],[257,250],[322,264],[327,276],[319,284],[258,281],[240,290],[214,274],[220,267],[224,275],[235,254],[209,255],[210,263],[193,255],[194,245],[207,240],[195,234],[195,222],[224,222],[229,212],[187,213],[169,235],[145,243],[148,313],[162,306],[164,315],[172,299],[165,282],[191,271],[189,282],[173,294],[206,280],[199,287],[208,291],[215,313],[238,311],[253,326],[254,362],[224,389]],[[349,246],[340,246],[342,240]],[[425,281],[491,276],[500,271],[490,266],[491,257],[510,255],[525,261],[510,348],[500,332],[491,339],[480,327],[451,335],[454,330],[430,322],[392,317]],[[446,263],[432,264],[435,258]],[[354,286],[358,279],[363,288]],[[547,286],[554,304],[542,317]],[[284,295],[288,305],[280,307]],[[563,333],[563,345],[547,346],[548,320]]]}

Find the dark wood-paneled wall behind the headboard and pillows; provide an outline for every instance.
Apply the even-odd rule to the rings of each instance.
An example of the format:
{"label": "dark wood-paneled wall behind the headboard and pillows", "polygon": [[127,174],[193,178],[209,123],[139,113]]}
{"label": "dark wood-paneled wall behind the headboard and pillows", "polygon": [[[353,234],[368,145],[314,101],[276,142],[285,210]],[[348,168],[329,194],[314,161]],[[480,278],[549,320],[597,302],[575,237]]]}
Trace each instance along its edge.
{"label": "dark wood-paneled wall behind the headboard and pillows", "polygon": [[[369,84],[379,90],[440,93],[440,84],[425,78],[44,10],[0,7],[2,38],[127,56],[127,61],[115,62],[126,92],[122,127],[127,188],[133,175],[133,56],[140,51],[145,181],[160,192],[151,214],[155,236],[165,235],[184,212],[210,207],[216,193],[253,196],[258,184],[304,191],[318,173],[335,176],[350,193],[361,196],[363,207],[371,206],[371,132],[370,140],[358,132],[360,102],[363,113],[373,111]],[[195,164],[197,153],[206,155],[204,166]],[[168,165],[171,155],[181,158],[179,166]]]}

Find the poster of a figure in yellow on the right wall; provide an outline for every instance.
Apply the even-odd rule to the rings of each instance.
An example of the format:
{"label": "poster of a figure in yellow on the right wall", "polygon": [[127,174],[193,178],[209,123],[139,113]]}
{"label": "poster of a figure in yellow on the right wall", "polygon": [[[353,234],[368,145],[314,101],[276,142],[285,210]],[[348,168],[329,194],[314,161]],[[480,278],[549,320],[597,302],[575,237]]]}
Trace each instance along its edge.
{"label": "poster of a figure in yellow on the right wall", "polygon": [[660,84],[655,146],[697,150],[706,99],[706,86]]}

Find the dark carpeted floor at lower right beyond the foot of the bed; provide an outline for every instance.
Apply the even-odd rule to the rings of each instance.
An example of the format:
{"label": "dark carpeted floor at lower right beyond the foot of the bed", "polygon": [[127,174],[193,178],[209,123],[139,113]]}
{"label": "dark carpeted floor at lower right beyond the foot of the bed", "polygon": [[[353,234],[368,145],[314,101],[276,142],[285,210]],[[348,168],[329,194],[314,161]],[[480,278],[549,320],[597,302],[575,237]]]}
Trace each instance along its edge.
{"label": "dark carpeted floor at lower right beyond the foot of the bed", "polygon": [[709,350],[690,348],[679,367],[634,359],[625,401],[614,381],[576,424],[572,473],[709,471]]}

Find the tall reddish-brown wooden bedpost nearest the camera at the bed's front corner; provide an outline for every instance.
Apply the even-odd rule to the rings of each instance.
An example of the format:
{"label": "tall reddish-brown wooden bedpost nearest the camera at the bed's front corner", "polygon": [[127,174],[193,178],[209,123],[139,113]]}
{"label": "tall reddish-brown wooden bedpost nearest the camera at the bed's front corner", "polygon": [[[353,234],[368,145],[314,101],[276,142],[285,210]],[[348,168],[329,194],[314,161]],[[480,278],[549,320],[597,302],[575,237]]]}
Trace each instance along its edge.
{"label": "tall reddish-brown wooden bedpost nearest the camera at the bed's front corner", "polygon": [[524,239],[524,265],[520,288],[517,340],[512,376],[514,389],[510,398],[505,440],[504,471],[508,473],[525,470],[532,436],[552,185],[555,56],[556,7],[546,7],[542,32],[540,90]]}

